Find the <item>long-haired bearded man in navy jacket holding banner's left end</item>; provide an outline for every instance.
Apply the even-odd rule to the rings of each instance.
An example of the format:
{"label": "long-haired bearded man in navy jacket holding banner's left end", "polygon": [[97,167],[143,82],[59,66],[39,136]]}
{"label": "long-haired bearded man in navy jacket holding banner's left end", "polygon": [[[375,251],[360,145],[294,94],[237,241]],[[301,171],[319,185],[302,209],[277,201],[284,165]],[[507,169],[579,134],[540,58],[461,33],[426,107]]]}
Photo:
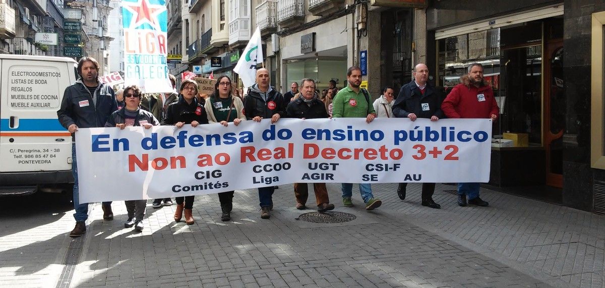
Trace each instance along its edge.
{"label": "long-haired bearded man in navy jacket holding banner's left end", "polygon": [[[105,126],[107,118],[117,110],[116,95],[113,89],[98,79],[99,62],[93,57],[83,57],[77,65],[80,79],[74,85],[65,88],[63,100],[57,116],[59,122],[70,131],[71,171],[74,175],[73,201],[76,213],[76,227],[70,232],[71,237],[80,237],[86,232],[85,221],[88,218],[88,203],[80,203],[77,179],[76,133],[78,128],[96,128]],[[113,220],[111,202],[103,202],[103,219]]]}

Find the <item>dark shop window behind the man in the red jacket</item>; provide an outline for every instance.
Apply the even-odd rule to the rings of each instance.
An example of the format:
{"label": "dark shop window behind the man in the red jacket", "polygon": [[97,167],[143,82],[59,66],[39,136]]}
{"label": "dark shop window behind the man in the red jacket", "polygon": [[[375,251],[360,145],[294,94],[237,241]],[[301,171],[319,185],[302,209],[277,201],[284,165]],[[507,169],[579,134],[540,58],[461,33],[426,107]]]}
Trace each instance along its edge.
{"label": "dark shop window behind the man in the red jacket", "polygon": [[446,93],[472,63],[483,65],[500,108],[492,136],[523,134],[523,146],[543,146],[542,22],[533,21],[439,39],[437,85]]}

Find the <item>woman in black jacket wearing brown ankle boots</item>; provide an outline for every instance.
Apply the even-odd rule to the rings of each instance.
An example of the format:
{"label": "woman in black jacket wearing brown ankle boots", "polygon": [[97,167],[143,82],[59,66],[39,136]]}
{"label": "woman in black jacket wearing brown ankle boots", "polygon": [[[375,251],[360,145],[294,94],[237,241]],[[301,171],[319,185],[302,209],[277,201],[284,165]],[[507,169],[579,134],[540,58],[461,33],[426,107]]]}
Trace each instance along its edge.
{"label": "woman in black jacket wearing brown ankle boots", "polygon": [[[185,124],[197,127],[200,124],[208,124],[208,116],[204,107],[197,102],[198,87],[194,80],[184,80],[181,83],[178,102],[168,105],[162,125],[174,125],[182,128]],[[185,222],[189,225],[194,223],[193,201],[194,196],[176,197],[177,209],[174,212],[174,221],[180,221],[185,212]]]}

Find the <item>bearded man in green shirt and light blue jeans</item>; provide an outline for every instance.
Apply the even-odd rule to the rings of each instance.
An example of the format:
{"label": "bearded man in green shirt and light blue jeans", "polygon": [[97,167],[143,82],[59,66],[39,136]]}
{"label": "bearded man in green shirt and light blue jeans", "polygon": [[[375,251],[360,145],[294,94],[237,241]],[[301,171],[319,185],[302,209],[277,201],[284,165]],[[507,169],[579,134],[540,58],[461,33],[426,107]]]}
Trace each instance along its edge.
{"label": "bearded man in green shirt and light blue jeans", "polygon": [[[333,100],[333,116],[340,117],[364,117],[365,122],[370,123],[376,118],[374,106],[370,104],[368,91],[359,89],[361,85],[361,68],[351,67],[347,70],[348,85],[339,91]],[[342,205],[353,207],[351,197],[353,195],[353,184],[342,183]],[[373,210],[382,205],[382,201],[374,198],[369,183],[359,183],[359,192],[365,202],[366,210]]]}

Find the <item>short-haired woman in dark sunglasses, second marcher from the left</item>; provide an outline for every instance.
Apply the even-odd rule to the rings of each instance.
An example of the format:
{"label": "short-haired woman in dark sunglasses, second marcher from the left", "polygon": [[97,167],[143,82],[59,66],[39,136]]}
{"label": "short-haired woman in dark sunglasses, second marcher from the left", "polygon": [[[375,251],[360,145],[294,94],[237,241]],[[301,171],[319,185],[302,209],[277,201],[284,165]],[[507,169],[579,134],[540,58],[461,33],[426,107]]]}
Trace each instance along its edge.
{"label": "short-haired woman in dark sunglasses, second marcher from the left", "polygon": [[[153,114],[140,108],[141,90],[137,85],[124,88],[125,106],[122,109],[111,113],[108,117],[105,127],[117,127],[124,129],[126,126],[143,126],[149,129],[152,126],[160,125]],[[145,208],[147,200],[126,200],[126,211],[128,211],[128,220],[124,223],[125,228],[134,226],[138,232],[143,231],[143,217],[145,217]]]}

